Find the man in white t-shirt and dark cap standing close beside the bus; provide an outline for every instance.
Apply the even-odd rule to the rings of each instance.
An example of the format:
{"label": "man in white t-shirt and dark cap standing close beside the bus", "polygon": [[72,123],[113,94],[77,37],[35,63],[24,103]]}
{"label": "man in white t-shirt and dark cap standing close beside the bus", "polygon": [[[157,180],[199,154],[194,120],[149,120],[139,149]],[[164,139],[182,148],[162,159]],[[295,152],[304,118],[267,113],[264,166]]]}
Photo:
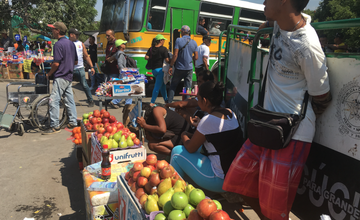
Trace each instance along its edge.
{"label": "man in white t-shirt and dark cap standing close beside the bus", "polygon": [[199,74],[202,70],[209,69],[209,57],[210,57],[210,49],[209,46],[211,44],[211,36],[203,35],[202,36],[202,44],[197,47],[197,60],[195,60],[195,56],[193,57],[193,61],[195,63],[195,73],[196,78],[197,74]]}

